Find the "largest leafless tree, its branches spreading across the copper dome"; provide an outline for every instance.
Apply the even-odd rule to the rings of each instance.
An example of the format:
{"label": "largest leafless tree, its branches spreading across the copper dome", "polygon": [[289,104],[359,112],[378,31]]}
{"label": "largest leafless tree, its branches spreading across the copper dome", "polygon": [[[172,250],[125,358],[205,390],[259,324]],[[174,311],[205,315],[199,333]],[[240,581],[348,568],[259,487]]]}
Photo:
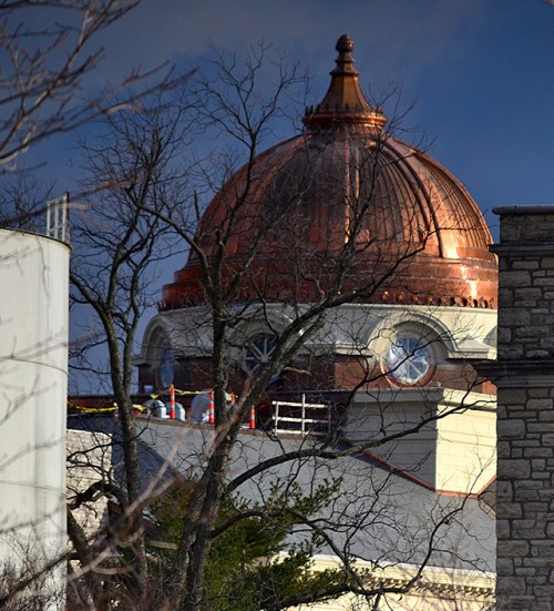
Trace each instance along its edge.
{"label": "largest leafless tree, its branches spreading across the copper dome", "polygon": [[[295,167],[295,182],[275,196],[260,191],[283,147],[261,155],[259,151],[271,138],[274,121],[284,114],[284,96],[301,84],[294,69],[287,70],[283,61],[277,61],[277,85],[271,90],[263,82],[261,94],[257,80],[267,52],[255,49],[245,65],[236,58],[218,55],[216,72],[209,79],[198,77],[178,100],[156,101],[141,115],[110,116],[110,131],[103,134],[100,146],[88,149],[91,180],[109,186],[99,195],[93,212],[81,218],[81,251],[73,259],[72,271],[73,298],[75,304],[91,306],[101,323],[99,342],[109,350],[107,374],[117,404],[125,473],[117,492],[124,517],[119,523],[117,540],[114,543],[105,538],[95,544],[111,546],[112,551],[120,549],[115,552],[116,566],[112,564],[117,576],[111,585],[116,587],[109,595],[133,609],[151,608],[154,600],[162,609],[240,608],[239,601],[223,605],[228,595],[223,582],[219,592],[211,589],[214,562],[217,563],[211,553],[237,525],[248,520],[261,525],[260,529],[295,534],[298,544],[307,546],[302,550],[326,549],[339,561],[339,569],[326,573],[327,581],[319,582],[318,589],[284,592],[276,585],[273,599],[268,595],[258,601],[264,609],[309,604],[347,592],[378,609],[387,595],[407,593],[422,579],[430,559],[441,553],[449,526],[455,522],[461,531],[465,528],[462,516],[468,497],[437,501],[428,508],[429,521],[407,534],[408,523],[394,515],[402,503],[390,498],[394,469],[389,466],[388,473],[363,481],[368,471],[357,460],[363,456],[376,460],[367,455],[368,450],[390,446],[437,420],[474,407],[472,390],[481,380],[471,373],[460,375],[456,381],[462,399],[455,407],[432,410],[431,393],[423,393],[421,413],[399,421],[388,419],[387,406],[381,404],[380,424],[365,442],[348,446],[336,431],[293,444],[271,441],[269,435],[267,447],[273,450],[266,452],[242,435],[250,409],[267,399],[268,388],[279,375],[285,371],[291,379],[298,378],[297,388],[306,379],[321,375],[326,355],[312,347],[322,344],[321,338],[331,326],[341,327],[359,344],[359,327],[345,319],[341,308],[370,303],[391,283],[406,285],[410,262],[434,238],[435,232],[431,225],[421,226],[419,234],[416,232],[417,240],[398,241],[398,247],[390,237],[383,242],[368,234],[368,216],[382,214],[376,196],[377,167],[388,136],[378,129],[378,109],[370,111],[376,124],[369,134],[338,136],[347,145],[349,139],[372,140],[365,156],[349,167],[351,180],[345,183],[331,173],[326,184],[315,184],[315,169],[328,161],[329,150],[319,147],[317,139],[310,142],[309,138],[300,138],[295,146],[304,147],[305,154],[300,167]],[[220,142],[225,136],[228,147],[217,155],[193,154],[188,140],[194,140],[197,132],[204,142]],[[187,145],[184,150],[183,143]],[[370,180],[360,185],[356,179],[359,175]],[[336,217],[329,214],[316,242],[306,226],[304,207],[314,190],[329,202],[346,202],[341,226],[337,227]],[[260,193],[265,197],[261,205],[256,200]],[[214,195],[217,205],[206,208],[205,202]],[[404,223],[410,225],[414,218],[416,211],[413,217],[408,212]],[[455,218],[444,222],[444,228],[455,226]],[[240,242],[244,235],[248,235],[248,243]],[[171,553],[163,562],[160,560],[165,568],[161,573],[148,562],[143,519],[143,510],[157,493],[152,488],[145,492],[138,464],[138,444],[144,440],[155,445],[156,440],[148,440],[148,427],[140,432],[142,424],[137,424],[133,413],[131,356],[138,317],[152,297],[147,292],[152,286],[150,274],[172,252],[175,241],[186,244],[188,265],[196,275],[181,295],[185,302],[174,301],[172,306],[172,295],[167,293],[162,309],[171,315],[172,307],[194,306],[191,312],[195,316],[175,324],[170,335],[175,343],[196,348],[196,354],[204,357],[214,394],[215,424],[204,436],[198,432],[204,429],[192,428],[182,445],[167,440],[173,458],[177,460],[178,455],[181,471],[188,473],[188,479],[181,482],[183,496],[170,511],[178,528],[173,531]],[[276,242],[274,258],[267,261],[263,248]],[[283,265],[284,261],[287,265]],[[270,337],[270,349],[256,366],[243,368],[248,346],[246,326],[253,323]],[[391,364],[391,368],[409,361],[421,349],[421,343],[438,339],[437,334],[421,336],[418,347]],[[359,389],[375,388],[378,394],[379,380],[386,375],[368,358],[367,346],[360,345],[359,354],[350,355],[350,367],[356,371],[356,381],[340,395],[343,410]],[[325,376],[320,379],[325,386]],[[232,408],[226,396],[229,384],[236,394]],[[309,384],[314,393],[321,391],[317,383]],[[392,403],[393,398],[388,400]],[[201,436],[199,446],[195,446],[196,435]],[[256,460],[246,458],[249,451],[257,452]],[[316,481],[327,483],[318,487]],[[82,499],[98,489],[84,490]],[[256,500],[249,499],[249,493]],[[156,502],[164,501],[157,500]],[[379,525],[387,528],[380,530]],[[356,564],[357,538],[377,532],[388,532],[388,537],[396,533],[397,541],[383,542],[382,558],[371,559],[373,568],[384,561],[386,551],[399,540],[407,543],[406,561],[411,559],[417,566],[397,585],[370,579],[368,566],[359,570]],[[123,534],[129,537],[126,547]],[[409,541],[410,537],[413,540]],[[72,539],[85,568],[91,562],[86,537],[75,528]],[[113,561],[112,557],[110,562]],[[225,562],[225,557],[219,562]],[[148,588],[148,576],[156,579],[155,592]],[[94,599],[94,588],[89,589],[89,595]]]}

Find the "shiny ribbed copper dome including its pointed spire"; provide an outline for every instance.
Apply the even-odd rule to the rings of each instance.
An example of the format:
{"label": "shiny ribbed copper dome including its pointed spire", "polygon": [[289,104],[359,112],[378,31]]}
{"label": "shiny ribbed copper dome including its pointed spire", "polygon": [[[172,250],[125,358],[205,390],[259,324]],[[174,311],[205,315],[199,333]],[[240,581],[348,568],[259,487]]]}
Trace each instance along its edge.
{"label": "shiny ribbed copper dome including its pointed spire", "polygon": [[[337,67],[322,102],[304,116],[305,133],[238,171],[204,213],[197,241],[217,257],[227,283],[248,262],[237,301],[314,301],[362,287],[359,299],[491,307],[496,262],[476,204],[442,165],[387,133],[353,70],[352,41],[337,42]],[[233,221],[232,221],[233,218]],[[348,265],[346,266],[346,262]],[[203,301],[191,253],[163,309]]]}

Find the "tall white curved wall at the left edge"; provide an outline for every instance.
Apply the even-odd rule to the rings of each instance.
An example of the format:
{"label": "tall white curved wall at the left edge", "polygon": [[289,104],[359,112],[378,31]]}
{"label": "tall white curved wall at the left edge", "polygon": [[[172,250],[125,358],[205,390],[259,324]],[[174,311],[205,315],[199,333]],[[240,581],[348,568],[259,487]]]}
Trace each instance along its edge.
{"label": "tall white curved wall at the left edge", "polygon": [[[0,230],[0,563],[19,570],[40,571],[66,547],[69,255],[49,237]],[[44,591],[63,590],[62,567]]]}

